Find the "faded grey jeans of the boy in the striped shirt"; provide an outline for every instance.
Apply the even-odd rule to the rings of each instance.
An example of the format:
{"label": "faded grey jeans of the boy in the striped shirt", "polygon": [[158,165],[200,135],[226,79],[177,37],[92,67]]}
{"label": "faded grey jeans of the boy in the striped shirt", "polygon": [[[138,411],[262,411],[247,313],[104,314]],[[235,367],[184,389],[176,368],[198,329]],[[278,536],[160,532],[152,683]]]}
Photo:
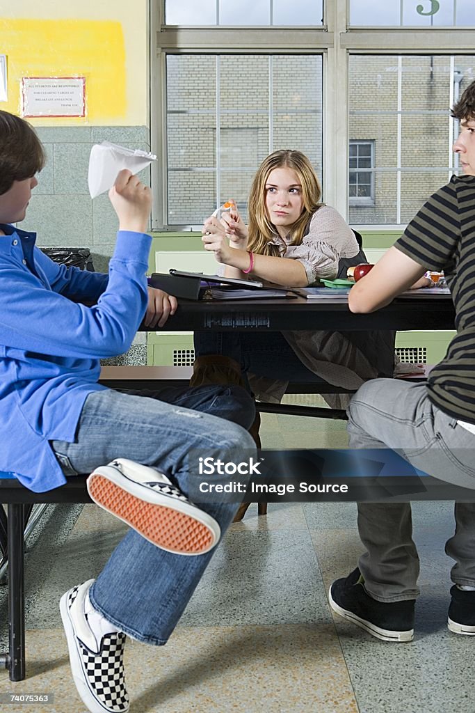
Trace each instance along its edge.
{"label": "faded grey jeans of the boy in the striped shirt", "polygon": [[[441,481],[474,489],[475,434],[429,401],[426,384],[373,379],[348,406],[350,448],[392,448]],[[475,586],[475,503],[455,503],[456,530],[445,545],[455,560],[451,580]],[[419,594],[419,555],[412,540],[410,503],[358,503],[365,588],[380,602]]]}

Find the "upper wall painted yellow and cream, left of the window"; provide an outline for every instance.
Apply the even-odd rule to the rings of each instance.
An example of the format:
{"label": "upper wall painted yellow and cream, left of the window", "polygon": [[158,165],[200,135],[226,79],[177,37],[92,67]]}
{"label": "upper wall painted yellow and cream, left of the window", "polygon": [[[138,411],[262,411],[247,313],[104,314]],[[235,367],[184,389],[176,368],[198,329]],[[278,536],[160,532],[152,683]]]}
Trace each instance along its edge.
{"label": "upper wall painted yellow and cream, left of the window", "polygon": [[20,113],[22,77],[84,76],[84,118],[28,120],[147,125],[148,34],[148,0],[2,0],[0,54],[7,56],[9,101],[0,108]]}

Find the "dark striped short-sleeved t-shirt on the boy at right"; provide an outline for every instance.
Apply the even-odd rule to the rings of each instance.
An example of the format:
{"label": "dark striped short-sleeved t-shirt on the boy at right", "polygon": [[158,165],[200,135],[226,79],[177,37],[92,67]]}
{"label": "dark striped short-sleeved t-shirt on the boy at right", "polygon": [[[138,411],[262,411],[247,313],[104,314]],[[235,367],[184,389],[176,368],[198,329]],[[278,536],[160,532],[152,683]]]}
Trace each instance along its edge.
{"label": "dark striped short-sleeved t-shirt on the boy at right", "polygon": [[449,416],[475,424],[475,176],[452,176],[395,247],[429,270],[444,270],[456,335],[430,372],[429,399]]}

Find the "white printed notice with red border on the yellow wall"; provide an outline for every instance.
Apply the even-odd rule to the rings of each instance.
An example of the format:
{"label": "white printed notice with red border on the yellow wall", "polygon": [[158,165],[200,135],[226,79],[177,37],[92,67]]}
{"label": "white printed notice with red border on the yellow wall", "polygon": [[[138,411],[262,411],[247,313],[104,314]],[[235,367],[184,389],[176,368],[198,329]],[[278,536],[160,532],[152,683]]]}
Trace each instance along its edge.
{"label": "white printed notice with red border on the yellow wall", "polygon": [[22,116],[85,116],[85,77],[24,77]]}

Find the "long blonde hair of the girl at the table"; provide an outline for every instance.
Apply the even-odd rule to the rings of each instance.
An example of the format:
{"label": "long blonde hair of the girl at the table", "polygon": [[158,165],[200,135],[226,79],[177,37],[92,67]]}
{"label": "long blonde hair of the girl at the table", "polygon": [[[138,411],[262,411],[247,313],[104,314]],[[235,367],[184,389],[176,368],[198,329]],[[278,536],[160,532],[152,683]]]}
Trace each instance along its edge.
{"label": "long blonde hair of the girl at the table", "polygon": [[310,218],[322,205],[320,183],[312,164],[301,151],[283,149],[274,151],[263,160],[251,185],[249,195],[249,238],[247,249],[261,255],[278,255],[276,245],[270,241],[277,229],[268,217],[266,207],[266,183],[274,168],[291,168],[298,176],[302,186],[303,210],[290,227],[291,245],[300,245]]}

